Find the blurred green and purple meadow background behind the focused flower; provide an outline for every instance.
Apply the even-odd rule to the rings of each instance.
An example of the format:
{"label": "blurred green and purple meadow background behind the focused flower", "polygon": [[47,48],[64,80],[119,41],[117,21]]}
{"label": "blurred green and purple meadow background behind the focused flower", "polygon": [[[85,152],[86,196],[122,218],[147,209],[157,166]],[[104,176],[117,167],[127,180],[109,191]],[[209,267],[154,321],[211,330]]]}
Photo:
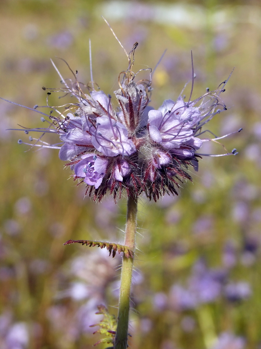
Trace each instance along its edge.
{"label": "blurred green and purple meadow background behind the focused flower", "polygon": [[[152,81],[156,109],[190,79],[190,50],[194,98],[235,66],[222,94],[228,110],[207,127],[217,135],[243,127],[223,140],[237,156],[200,160],[193,184],[175,198],[140,199],[130,348],[260,349],[260,2],[1,0],[0,96],[45,105],[42,86],[61,86],[49,59],[72,77],[56,56],[88,83],[89,38],[94,80],[113,94],[127,59],[101,15],[127,51],[139,43],[135,71],[154,68],[167,49]],[[121,256],[63,243],[122,242],[126,199],[84,198],[58,150],[17,144],[28,142],[6,131],[17,124],[46,126],[40,114],[0,102],[0,348],[92,348],[100,339],[89,327],[101,319],[97,305],[117,314]],[[226,153],[210,142],[200,152]]]}

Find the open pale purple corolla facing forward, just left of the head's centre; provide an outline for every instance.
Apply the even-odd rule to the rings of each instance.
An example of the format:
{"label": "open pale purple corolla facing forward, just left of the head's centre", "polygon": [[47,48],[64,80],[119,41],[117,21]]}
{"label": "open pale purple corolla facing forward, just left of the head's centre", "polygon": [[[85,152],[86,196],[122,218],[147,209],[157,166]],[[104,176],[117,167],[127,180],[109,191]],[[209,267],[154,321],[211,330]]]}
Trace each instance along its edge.
{"label": "open pale purple corolla facing forward, just left of the head's centre", "polygon": [[96,119],[96,128],[90,127],[94,147],[106,156],[127,156],[136,148],[124,125],[112,118],[102,116]]}

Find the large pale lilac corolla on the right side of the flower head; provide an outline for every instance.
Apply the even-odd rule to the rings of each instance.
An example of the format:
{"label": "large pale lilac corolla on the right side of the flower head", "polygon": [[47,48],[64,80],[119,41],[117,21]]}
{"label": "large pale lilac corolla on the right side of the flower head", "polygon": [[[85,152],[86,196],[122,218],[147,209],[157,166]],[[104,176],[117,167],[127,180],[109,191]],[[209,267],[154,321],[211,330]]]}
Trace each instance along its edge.
{"label": "large pale lilac corolla on the right side of the flower head", "polygon": [[167,99],[159,110],[150,110],[148,115],[150,138],[165,149],[190,157],[201,147],[202,141],[193,136],[192,130],[201,113],[197,107],[187,107],[181,97],[176,103]]}

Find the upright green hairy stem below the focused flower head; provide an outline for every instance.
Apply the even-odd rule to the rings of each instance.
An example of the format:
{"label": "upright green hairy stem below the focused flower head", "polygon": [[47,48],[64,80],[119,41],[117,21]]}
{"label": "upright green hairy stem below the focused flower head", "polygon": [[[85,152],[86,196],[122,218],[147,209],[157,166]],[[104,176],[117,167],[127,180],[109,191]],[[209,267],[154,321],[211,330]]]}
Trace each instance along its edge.
{"label": "upright green hairy stem below the focused flower head", "polygon": [[[125,245],[134,252],[137,227],[137,198],[128,198]],[[130,286],[132,283],[133,258],[123,255],[121,266],[118,324],[114,349],[126,349],[128,341]]]}

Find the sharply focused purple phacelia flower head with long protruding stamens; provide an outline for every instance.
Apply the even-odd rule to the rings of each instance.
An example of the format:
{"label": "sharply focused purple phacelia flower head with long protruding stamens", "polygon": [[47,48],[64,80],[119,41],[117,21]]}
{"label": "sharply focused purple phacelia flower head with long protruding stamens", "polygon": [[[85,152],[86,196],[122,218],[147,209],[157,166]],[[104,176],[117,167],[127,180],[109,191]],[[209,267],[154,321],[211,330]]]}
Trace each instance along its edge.
{"label": "sharply focused purple phacelia flower head with long protruding stamens", "polygon": [[[129,62],[134,49],[129,54]],[[35,111],[48,117],[49,120],[41,119],[49,122],[49,126],[28,128],[25,133],[38,131],[60,136],[60,144],[47,144],[39,138],[35,139],[34,146],[60,149],[60,159],[68,161],[66,165],[73,170],[74,179],[86,184],[86,195],[94,200],[100,201],[107,192],[116,200],[125,190],[128,196],[145,193],[157,201],[165,193],[177,194],[182,180],[191,180],[187,169],[193,167],[197,171],[202,155],[236,154],[236,149],[221,155],[198,153],[203,142],[211,140],[200,138],[204,133],[202,126],[221,109],[226,110],[220,94],[227,80],[215,91],[207,89],[194,101],[190,100],[191,95],[188,102],[179,96],[176,101],[165,100],[155,110],[149,105],[151,80],[136,82],[129,64],[123,79],[119,80],[120,88],[114,91],[118,104],[114,108],[112,97],[96,91],[93,83],[92,87],[78,83],[77,73],[75,82],[67,83],[54,67],[63,88],[47,92],[47,106],[52,92],[70,94],[76,97],[76,102],[50,106],[50,115],[38,111],[38,105],[34,106]],[[192,86],[193,79],[194,76]],[[82,91],[84,88],[88,93]],[[59,110],[61,107],[67,110],[66,115]],[[55,113],[58,116],[54,116]],[[30,137],[30,140],[34,139]]]}

